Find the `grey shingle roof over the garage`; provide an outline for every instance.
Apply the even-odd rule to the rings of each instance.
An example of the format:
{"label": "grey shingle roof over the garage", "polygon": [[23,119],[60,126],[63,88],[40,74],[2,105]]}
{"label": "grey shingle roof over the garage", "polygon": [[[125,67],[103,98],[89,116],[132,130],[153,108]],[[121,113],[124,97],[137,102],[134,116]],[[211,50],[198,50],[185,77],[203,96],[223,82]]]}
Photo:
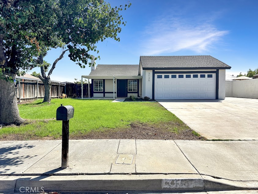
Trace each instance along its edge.
{"label": "grey shingle roof over the garage", "polygon": [[142,69],[230,69],[210,55],[196,56],[140,56]]}

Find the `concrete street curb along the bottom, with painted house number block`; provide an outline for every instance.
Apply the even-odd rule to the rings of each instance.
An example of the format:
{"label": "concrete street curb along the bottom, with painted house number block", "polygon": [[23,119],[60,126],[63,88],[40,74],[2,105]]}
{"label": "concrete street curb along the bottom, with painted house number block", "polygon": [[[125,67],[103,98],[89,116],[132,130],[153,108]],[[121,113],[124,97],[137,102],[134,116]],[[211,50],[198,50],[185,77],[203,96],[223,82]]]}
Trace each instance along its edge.
{"label": "concrete street curb along the bottom, with painted house number block", "polygon": [[[44,191],[215,191],[258,189],[258,181],[229,181],[198,174],[0,176],[0,193]],[[34,190],[36,189],[36,190]],[[28,192],[31,192],[29,190]]]}

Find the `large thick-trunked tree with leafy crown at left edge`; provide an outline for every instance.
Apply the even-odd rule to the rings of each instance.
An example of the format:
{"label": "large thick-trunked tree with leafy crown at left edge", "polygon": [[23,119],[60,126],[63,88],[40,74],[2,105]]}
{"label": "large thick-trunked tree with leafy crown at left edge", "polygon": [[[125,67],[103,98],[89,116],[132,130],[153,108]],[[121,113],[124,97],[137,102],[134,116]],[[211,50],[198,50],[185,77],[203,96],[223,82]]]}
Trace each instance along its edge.
{"label": "large thick-trunked tree with leafy crown at left edge", "polygon": [[0,123],[24,122],[13,80],[36,67],[39,52],[56,44],[50,27],[61,14],[58,8],[56,0],[0,1]]}

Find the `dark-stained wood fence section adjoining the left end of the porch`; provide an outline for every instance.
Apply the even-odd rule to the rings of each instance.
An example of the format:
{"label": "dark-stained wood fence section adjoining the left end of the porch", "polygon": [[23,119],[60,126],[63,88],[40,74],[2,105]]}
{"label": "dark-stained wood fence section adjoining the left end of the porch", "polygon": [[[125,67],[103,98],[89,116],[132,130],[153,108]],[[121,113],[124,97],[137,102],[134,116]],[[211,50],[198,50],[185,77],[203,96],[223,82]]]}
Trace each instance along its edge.
{"label": "dark-stained wood fence section adjoining the left end of the porch", "polygon": [[[88,98],[88,84],[83,84],[83,98]],[[90,84],[91,89],[91,84]],[[81,98],[82,97],[82,85],[75,83],[67,83],[65,87],[65,94],[68,98]]]}

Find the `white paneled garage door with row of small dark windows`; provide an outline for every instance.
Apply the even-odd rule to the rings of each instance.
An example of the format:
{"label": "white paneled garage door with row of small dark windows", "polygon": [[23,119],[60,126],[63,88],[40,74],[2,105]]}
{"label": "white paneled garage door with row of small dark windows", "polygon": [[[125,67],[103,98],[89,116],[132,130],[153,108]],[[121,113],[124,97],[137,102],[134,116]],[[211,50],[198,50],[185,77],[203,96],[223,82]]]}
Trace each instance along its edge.
{"label": "white paneled garage door with row of small dark windows", "polygon": [[155,74],[155,99],[216,99],[216,74]]}

